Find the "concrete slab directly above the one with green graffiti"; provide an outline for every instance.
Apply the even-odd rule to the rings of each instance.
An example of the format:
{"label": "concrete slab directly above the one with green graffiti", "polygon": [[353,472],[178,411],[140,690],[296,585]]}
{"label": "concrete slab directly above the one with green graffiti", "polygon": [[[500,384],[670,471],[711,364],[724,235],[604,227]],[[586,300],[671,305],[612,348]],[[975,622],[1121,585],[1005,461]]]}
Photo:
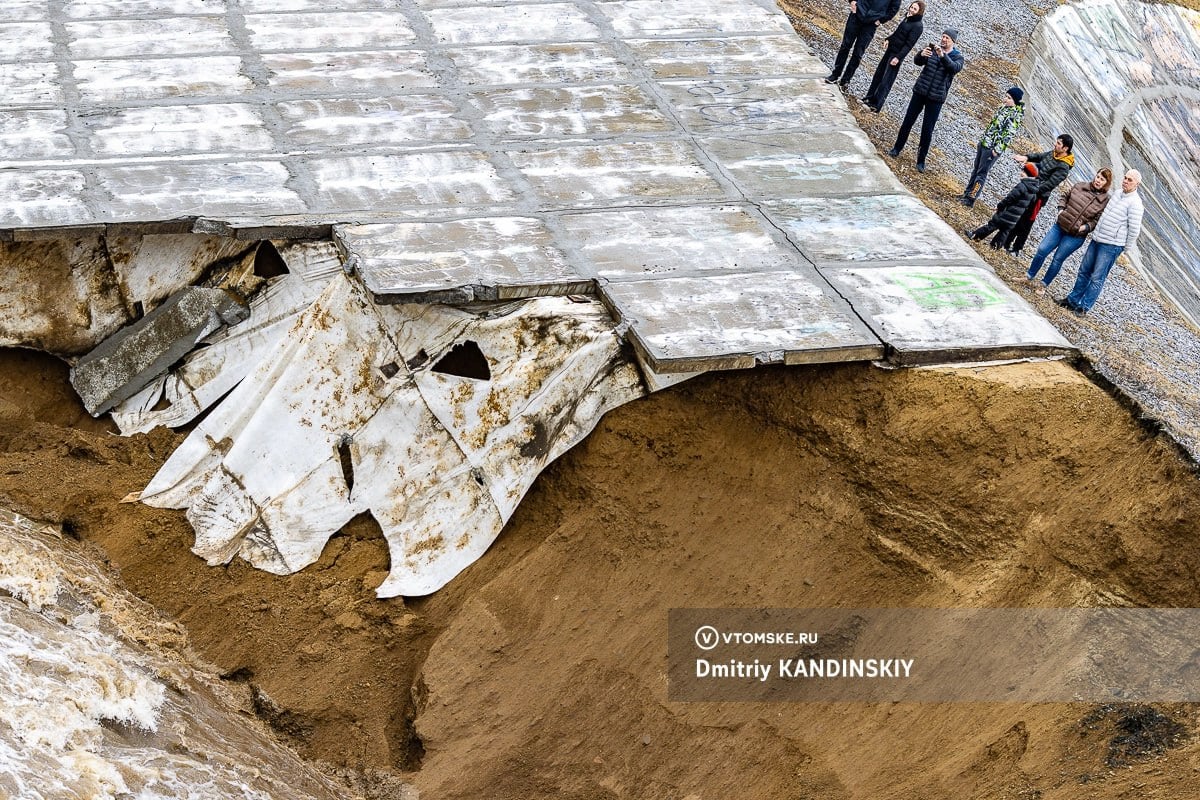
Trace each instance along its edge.
{"label": "concrete slab directly above the one with green graffiti", "polygon": [[763,210],[821,266],[979,265],[974,249],[911,194],[768,200]]}

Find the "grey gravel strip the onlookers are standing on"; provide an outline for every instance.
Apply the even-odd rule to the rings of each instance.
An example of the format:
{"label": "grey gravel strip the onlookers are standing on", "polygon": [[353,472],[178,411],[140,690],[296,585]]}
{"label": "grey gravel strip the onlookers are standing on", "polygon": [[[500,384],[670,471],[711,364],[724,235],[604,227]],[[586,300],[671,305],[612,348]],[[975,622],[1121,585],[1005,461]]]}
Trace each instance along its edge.
{"label": "grey gravel strip the onlookers are standing on", "polygon": [[[846,4],[840,0],[781,0],[780,5],[799,35],[826,64],[832,65],[846,19]],[[955,230],[967,225],[973,228],[986,221],[995,203],[1019,180],[1016,162],[1006,155],[992,169],[989,186],[974,209],[965,209],[954,200],[970,175],[974,143],[1000,104],[1004,90],[1015,82],[1020,59],[1034,28],[1042,16],[1058,5],[1055,0],[929,4],[922,41],[932,41],[946,28],[956,28],[966,67],[955,79],[952,95],[942,109],[934,133],[929,172],[922,175],[913,168],[919,122],[900,157],[884,160],[908,188]],[[883,30],[894,25],[895,22],[889,23]],[[883,113],[865,110],[857,97],[865,92],[878,64],[881,42],[882,36],[877,36],[871,43],[847,96],[859,125],[882,155],[895,142],[896,128],[919,68],[912,65],[910,54]],[[1037,98],[1030,98],[1031,106],[1037,102]],[[1045,113],[1045,109],[1034,113]],[[1019,136],[1015,149],[1048,150],[1052,144]],[[1120,175],[1118,169],[1114,172]],[[1087,178],[1076,173],[1072,173],[1069,182]],[[1050,203],[1056,203],[1056,197]],[[1039,216],[1025,246],[1028,255],[1032,255],[1052,221],[1052,213]],[[1080,248],[1063,265],[1062,272],[1042,297],[1033,295],[1022,282],[1028,257],[1018,260],[1007,253],[991,251],[983,242],[977,243],[977,249],[1001,278],[1079,347],[1103,379],[1126,395],[1136,414],[1153,426],[1162,426],[1194,461],[1200,461],[1200,331],[1192,327],[1172,305],[1165,302],[1133,267],[1118,264],[1091,313],[1084,318],[1075,317],[1055,305],[1054,299],[1064,296],[1074,285],[1085,248]]]}

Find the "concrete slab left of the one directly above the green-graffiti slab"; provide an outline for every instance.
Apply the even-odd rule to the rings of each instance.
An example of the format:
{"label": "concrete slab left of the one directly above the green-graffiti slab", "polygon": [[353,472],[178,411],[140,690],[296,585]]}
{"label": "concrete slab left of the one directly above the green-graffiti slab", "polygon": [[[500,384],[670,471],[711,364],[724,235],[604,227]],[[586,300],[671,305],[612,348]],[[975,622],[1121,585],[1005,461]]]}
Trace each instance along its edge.
{"label": "concrete slab left of the one directly above the green-graffiti slab", "polygon": [[749,206],[564,213],[558,223],[580,272],[605,281],[776,271],[803,263]]}

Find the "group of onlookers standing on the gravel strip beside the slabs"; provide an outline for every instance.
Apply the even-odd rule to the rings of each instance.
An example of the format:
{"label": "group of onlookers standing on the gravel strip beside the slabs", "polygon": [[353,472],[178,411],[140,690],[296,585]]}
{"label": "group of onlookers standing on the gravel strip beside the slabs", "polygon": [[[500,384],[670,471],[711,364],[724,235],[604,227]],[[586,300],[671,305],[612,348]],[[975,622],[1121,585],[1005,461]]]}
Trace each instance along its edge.
{"label": "group of onlookers standing on the gravel strip beside the slabs", "polygon": [[[851,0],[841,47],[838,49],[833,72],[826,82],[846,89],[876,29],[890,22],[899,11],[900,0]],[[914,0],[908,5],[905,18],[884,40],[883,56],[875,70],[866,95],[862,98],[871,110],[878,112],[883,108],[901,61],[912,52],[924,32],[924,1]],[[962,53],[958,49],[958,31],[948,28],[942,31],[937,42],[926,44],[913,58],[913,64],[922,67],[922,71],[913,85],[912,97],[896,133],[895,144],[888,155],[893,158],[900,155],[917,118],[924,115],[917,145],[917,172],[920,173],[925,172],[925,158],[932,143],[934,127],[949,95],[950,84],[965,64]],[[1025,92],[1019,86],[1012,86],[1004,92],[1001,106],[976,146],[971,176],[958,198],[965,206],[973,206],[979,198],[991,168],[1008,150],[1024,118]],[[964,233],[972,240],[994,235],[991,241],[994,248],[1006,249],[1020,257],[1038,213],[1075,166],[1074,146],[1074,139],[1063,133],[1055,139],[1051,150],[1026,155],[1014,154],[1013,158],[1021,164],[1021,179],[1000,200],[996,212],[986,223],[979,228],[966,229]],[[1026,271],[1026,283],[1034,287],[1037,294],[1044,295],[1063,263],[1082,247],[1084,241],[1091,235],[1092,241],[1084,252],[1074,288],[1063,300],[1057,301],[1076,314],[1086,314],[1099,297],[1112,265],[1122,252],[1133,246],[1141,231],[1144,206],[1138,194],[1140,184],[1141,173],[1130,169],[1121,180],[1120,192],[1112,192],[1112,170],[1105,167],[1092,180],[1080,181],[1063,192],[1058,199],[1058,216],[1038,243]],[[1050,266],[1038,281],[1037,276],[1051,253],[1054,258],[1050,260]]]}

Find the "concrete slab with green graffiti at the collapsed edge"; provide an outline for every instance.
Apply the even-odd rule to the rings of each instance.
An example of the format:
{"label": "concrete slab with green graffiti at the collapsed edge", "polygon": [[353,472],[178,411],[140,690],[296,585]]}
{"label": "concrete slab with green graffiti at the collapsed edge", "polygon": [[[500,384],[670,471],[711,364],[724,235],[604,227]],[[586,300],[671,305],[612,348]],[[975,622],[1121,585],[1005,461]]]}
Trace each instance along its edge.
{"label": "concrete slab with green graffiti at the collapsed edge", "polygon": [[1061,355],[1074,348],[991,271],[977,266],[824,269],[900,365]]}

